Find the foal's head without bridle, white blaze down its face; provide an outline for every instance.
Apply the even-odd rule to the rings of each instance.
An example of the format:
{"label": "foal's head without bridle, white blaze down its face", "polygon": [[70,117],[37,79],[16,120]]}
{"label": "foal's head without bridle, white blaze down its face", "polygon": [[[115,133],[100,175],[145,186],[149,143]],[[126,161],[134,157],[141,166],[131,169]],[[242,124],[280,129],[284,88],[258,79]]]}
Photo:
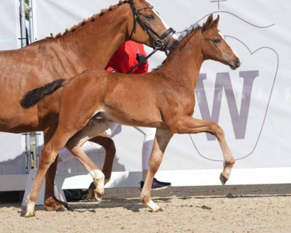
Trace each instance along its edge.
{"label": "foal's head without bridle, white blaze down its face", "polygon": [[204,59],[211,59],[228,65],[232,69],[241,66],[241,59],[233,51],[224,35],[217,29],[219,16],[213,21],[213,15],[210,15],[202,27],[201,48]]}

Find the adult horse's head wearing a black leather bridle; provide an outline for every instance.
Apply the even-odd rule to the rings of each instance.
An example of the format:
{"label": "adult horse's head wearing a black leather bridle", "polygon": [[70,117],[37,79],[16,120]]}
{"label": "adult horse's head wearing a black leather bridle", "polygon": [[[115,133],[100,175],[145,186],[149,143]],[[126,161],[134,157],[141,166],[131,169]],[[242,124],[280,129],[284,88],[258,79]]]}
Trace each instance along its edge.
{"label": "adult horse's head wearing a black leather bridle", "polygon": [[159,50],[169,50],[177,37],[159,13],[146,0],[129,0],[129,5],[129,39]]}

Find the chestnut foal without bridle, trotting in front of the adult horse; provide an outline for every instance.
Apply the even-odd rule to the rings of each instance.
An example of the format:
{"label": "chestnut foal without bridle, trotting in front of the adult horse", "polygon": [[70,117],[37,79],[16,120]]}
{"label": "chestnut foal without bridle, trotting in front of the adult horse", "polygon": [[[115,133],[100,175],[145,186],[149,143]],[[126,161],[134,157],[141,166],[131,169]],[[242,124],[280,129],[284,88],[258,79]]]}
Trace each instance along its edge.
{"label": "chestnut foal without bridle, trotting in front of the adult horse", "polygon": [[[141,193],[142,202],[153,212],[159,211],[160,207],[151,200],[151,184],[174,133],[207,132],[215,135],[225,161],[220,180],[226,183],[234,158],[226,144],[223,130],[215,122],[192,117],[194,89],[203,61],[212,59],[232,69],[241,65],[241,60],[217,29],[218,22],[219,17],[213,21],[210,15],[203,27],[194,28],[176,43],[176,48],[171,51],[164,65],[154,72],[137,75],[132,79],[125,74],[87,70],[68,82],[64,81],[58,128],[42,150],[42,169],[38,170],[35,186],[28,196],[26,216],[33,216],[34,203],[40,189],[36,185],[41,184],[49,164],[59,150],[66,146],[75,153],[83,153],[82,144],[105,131],[111,121],[157,128]],[[71,138],[73,135],[74,138]],[[95,172],[97,177],[98,171],[91,171]],[[97,189],[104,189],[103,184],[98,184]]]}

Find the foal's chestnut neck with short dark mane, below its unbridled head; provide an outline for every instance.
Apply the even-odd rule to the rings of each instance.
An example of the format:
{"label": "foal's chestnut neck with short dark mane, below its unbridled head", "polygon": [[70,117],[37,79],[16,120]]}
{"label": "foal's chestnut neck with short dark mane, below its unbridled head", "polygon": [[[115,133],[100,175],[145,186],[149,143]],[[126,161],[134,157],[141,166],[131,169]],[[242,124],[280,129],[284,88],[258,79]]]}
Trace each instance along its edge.
{"label": "foal's chestnut neck with short dark mane, below its unbridled head", "polygon": [[193,89],[196,86],[200,68],[204,62],[200,45],[202,32],[201,29],[197,30],[199,31],[194,32],[187,43],[180,42],[181,44],[178,45],[178,48],[173,51],[173,54],[171,54],[168,61],[161,68],[166,76],[181,84],[185,83]]}

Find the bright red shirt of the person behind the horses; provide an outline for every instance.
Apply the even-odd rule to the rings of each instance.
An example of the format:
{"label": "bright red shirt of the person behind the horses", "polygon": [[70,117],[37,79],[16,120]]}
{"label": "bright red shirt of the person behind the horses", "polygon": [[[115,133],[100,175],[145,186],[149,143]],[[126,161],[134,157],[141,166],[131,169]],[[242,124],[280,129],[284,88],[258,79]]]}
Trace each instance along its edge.
{"label": "bright red shirt of the person behind the horses", "polygon": [[[106,70],[109,72],[116,70],[119,73],[125,74],[130,68],[138,64],[136,60],[137,53],[143,54],[146,57],[146,52],[142,44],[138,44],[131,40],[121,44],[110,59]],[[147,70],[148,62],[146,61],[146,65],[140,65],[135,68],[131,74],[142,74],[146,73]]]}

